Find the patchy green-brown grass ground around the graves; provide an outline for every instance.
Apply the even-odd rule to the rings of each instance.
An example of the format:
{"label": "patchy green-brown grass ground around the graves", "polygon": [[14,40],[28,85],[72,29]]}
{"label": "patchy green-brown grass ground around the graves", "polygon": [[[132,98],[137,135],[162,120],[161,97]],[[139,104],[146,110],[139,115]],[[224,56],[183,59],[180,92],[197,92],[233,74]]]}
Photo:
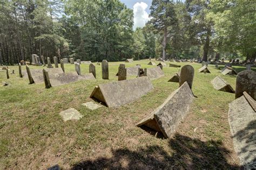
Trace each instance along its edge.
{"label": "patchy green-brown grass ground around the graves", "polygon": [[[45,89],[44,83],[29,84],[27,77],[19,78],[18,66],[9,67],[15,69],[10,79],[0,72],[0,82],[9,83],[0,87],[0,169],[45,169],[56,164],[64,169],[239,169],[228,124],[228,103],[234,100],[234,94],[217,91],[211,84],[219,75],[235,89],[236,76],[224,76],[214,65],[208,65],[211,74],[204,74],[198,73],[201,63],[175,63],[194,67],[192,90],[198,98],[194,98],[190,112],[173,137],[163,139],[136,124],[179,87],[179,83],[167,81],[180,68],[163,67],[165,76],[152,81],[154,89],[130,104],[93,111],[82,105],[93,101],[89,96],[95,86],[117,81],[119,63],[122,62],[109,62],[110,80],[102,80],[101,65],[95,64],[96,80],[50,89]],[[147,63],[149,60],[140,60],[125,65],[156,67]],[[80,67],[82,74],[89,73],[89,65]],[[35,68],[43,66],[30,66]],[[238,72],[246,69],[233,68]],[[74,65],[65,65],[65,72],[73,71]],[[75,108],[83,117],[64,122],[59,112],[69,108]]]}

